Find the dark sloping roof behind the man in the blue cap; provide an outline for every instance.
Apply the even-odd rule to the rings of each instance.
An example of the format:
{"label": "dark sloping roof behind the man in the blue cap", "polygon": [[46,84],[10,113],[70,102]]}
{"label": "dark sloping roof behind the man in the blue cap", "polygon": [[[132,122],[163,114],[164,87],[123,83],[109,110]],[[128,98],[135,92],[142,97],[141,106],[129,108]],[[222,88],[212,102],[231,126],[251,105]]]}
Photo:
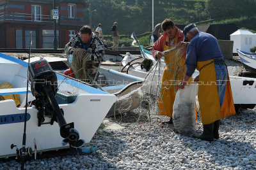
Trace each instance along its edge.
{"label": "dark sloping roof behind the man in the blue cap", "polygon": [[[182,30],[186,25],[179,25],[176,26]],[[230,34],[238,29],[236,24],[205,24],[205,25],[196,25],[199,31],[207,32],[212,34],[217,39],[222,40],[230,40]]]}

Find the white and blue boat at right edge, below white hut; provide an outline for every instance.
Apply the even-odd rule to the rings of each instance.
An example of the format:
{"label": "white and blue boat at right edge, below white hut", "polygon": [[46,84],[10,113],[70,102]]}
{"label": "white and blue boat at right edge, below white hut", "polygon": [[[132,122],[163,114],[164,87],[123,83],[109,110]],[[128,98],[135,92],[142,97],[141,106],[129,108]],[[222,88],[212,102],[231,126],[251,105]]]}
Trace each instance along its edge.
{"label": "white and blue boat at right edge, below white hut", "polygon": [[246,71],[256,73],[256,54],[243,52],[237,49],[237,53]]}

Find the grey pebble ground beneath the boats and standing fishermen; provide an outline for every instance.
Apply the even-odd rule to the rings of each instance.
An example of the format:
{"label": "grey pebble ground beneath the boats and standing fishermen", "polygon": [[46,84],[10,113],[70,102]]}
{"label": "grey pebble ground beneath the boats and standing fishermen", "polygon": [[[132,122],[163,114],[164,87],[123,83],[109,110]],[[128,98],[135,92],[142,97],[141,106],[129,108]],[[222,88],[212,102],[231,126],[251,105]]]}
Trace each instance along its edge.
{"label": "grey pebble ground beneath the boats and standing fishermen", "polygon": [[[243,70],[239,62],[226,62]],[[220,139],[211,143],[161,124],[168,119],[149,114],[147,107],[116,120],[105,118],[88,143],[96,152],[31,160],[26,169],[256,169],[256,108],[222,119]],[[198,117],[196,133],[201,132]],[[20,169],[20,164],[14,158],[2,159],[0,169]]]}

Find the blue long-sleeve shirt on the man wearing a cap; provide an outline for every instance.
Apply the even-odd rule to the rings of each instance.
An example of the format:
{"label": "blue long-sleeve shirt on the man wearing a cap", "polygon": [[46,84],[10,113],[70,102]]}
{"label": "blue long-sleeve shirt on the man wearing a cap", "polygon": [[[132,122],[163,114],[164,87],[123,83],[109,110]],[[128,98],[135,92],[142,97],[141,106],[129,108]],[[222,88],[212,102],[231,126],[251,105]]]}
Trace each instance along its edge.
{"label": "blue long-sleeve shirt on the man wearing a cap", "polygon": [[186,75],[192,76],[196,69],[196,62],[211,59],[224,59],[217,39],[211,34],[198,32],[191,39],[187,48],[185,65]]}

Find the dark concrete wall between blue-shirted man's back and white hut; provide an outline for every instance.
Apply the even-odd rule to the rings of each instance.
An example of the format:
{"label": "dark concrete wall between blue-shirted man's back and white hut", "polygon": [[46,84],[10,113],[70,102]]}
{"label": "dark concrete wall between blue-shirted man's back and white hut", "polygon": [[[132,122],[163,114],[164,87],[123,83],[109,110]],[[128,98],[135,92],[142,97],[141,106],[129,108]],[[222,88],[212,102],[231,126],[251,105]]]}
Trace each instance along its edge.
{"label": "dark concrete wall between blue-shirted man's back and white hut", "polygon": [[220,50],[223,54],[223,57],[225,59],[232,59],[234,41],[218,39],[218,43],[220,45]]}

